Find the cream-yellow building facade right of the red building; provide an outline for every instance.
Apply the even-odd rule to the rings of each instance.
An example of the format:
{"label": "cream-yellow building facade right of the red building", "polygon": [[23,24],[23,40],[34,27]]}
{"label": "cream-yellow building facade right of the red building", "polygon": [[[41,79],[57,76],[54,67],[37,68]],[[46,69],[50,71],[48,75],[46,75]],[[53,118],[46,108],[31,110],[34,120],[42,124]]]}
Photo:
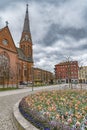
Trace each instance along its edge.
{"label": "cream-yellow building facade right of the red building", "polygon": [[79,67],[78,78],[79,83],[87,83],[87,66]]}

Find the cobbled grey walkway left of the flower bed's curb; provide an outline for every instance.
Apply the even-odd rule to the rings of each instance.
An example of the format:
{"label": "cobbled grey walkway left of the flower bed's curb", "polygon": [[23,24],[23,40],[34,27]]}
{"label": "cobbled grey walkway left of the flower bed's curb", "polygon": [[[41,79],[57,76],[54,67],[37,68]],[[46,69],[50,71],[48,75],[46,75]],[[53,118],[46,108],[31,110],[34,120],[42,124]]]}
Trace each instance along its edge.
{"label": "cobbled grey walkway left of the flower bed's curb", "polygon": [[13,106],[29,92],[1,96],[0,93],[0,130],[17,130],[13,120]]}

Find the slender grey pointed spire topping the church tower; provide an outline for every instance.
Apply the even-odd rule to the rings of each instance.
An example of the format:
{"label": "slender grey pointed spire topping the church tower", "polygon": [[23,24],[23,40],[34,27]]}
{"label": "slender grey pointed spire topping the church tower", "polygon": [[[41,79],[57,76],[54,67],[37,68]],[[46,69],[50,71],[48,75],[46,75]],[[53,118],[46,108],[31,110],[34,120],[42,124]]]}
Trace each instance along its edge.
{"label": "slender grey pointed spire topping the church tower", "polygon": [[29,32],[30,33],[28,4],[26,5],[26,14],[25,14],[23,32],[25,32],[25,33]]}

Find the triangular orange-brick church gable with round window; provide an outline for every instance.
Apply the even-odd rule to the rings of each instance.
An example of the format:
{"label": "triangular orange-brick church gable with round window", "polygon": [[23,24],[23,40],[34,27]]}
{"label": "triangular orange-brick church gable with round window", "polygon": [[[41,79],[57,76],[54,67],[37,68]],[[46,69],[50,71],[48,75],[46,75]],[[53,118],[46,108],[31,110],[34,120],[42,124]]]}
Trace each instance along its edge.
{"label": "triangular orange-brick church gable with round window", "polygon": [[17,53],[16,46],[7,26],[0,30],[0,47]]}

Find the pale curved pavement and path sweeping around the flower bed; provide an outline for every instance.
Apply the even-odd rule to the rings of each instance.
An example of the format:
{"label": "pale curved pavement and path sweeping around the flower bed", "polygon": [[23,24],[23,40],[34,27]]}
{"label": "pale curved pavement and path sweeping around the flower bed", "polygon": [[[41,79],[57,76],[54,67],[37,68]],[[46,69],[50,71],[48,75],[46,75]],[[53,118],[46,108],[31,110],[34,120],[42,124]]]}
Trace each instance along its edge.
{"label": "pale curved pavement and path sweeping around the flower bed", "polygon": [[[59,88],[58,86],[34,88],[44,90],[46,88]],[[13,119],[13,106],[22,97],[32,93],[32,88],[0,92],[0,130],[17,130]]]}

